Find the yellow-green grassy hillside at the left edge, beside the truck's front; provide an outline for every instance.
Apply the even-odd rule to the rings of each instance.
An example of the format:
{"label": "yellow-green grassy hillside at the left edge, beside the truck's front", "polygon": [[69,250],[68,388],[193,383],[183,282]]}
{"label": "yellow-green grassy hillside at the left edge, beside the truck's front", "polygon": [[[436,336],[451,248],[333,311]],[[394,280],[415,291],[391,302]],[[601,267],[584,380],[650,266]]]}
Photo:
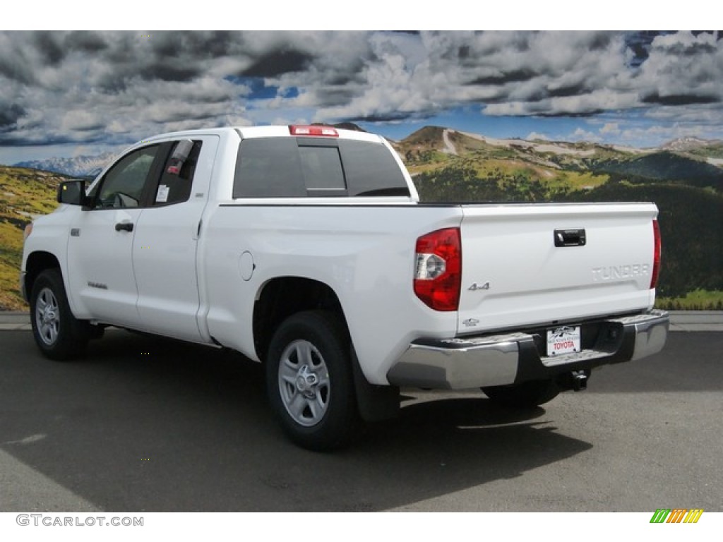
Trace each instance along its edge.
{"label": "yellow-green grassy hillside at the left edge, beside the truck's front", "polygon": [[27,309],[19,290],[22,231],[33,217],[56,207],[64,177],[56,173],[0,165],[0,309]]}

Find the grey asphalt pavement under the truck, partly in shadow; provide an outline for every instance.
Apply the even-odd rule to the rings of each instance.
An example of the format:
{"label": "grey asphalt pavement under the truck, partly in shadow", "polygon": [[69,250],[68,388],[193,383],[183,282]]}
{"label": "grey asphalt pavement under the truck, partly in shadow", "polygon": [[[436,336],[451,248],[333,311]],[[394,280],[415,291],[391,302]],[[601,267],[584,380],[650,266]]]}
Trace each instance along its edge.
{"label": "grey asphalt pavement under the truck, partly in shadow", "polygon": [[[720,325],[687,317],[673,329]],[[722,352],[719,332],[674,332],[527,412],[403,390],[398,419],[319,454],[234,353],[108,330],[57,363],[2,332],[0,511],[723,512]]]}

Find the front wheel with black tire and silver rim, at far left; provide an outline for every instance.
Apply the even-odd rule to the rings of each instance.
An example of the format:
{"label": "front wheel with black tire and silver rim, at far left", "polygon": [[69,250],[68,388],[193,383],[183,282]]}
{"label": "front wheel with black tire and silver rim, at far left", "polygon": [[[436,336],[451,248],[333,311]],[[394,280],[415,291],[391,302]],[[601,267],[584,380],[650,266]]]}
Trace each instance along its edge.
{"label": "front wheel with black tire and silver rim, at far left", "polygon": [[70,311],[59,270],[45,270],[35,279],[30,294],[30,324],[35,344],[44,356],[66,361],[85,353],[88,325]]}

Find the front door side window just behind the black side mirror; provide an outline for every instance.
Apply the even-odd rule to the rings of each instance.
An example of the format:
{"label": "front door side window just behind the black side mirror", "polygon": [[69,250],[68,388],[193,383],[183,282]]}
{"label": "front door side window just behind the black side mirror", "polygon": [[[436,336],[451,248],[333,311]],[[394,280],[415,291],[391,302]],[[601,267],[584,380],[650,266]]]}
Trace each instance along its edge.
{"label": "front door side window just behind the black side mirror", "polygon": [[143,147],[121,158],[100,181],[95,208],[141,207],[143,189],[159,149],[160,145]]}

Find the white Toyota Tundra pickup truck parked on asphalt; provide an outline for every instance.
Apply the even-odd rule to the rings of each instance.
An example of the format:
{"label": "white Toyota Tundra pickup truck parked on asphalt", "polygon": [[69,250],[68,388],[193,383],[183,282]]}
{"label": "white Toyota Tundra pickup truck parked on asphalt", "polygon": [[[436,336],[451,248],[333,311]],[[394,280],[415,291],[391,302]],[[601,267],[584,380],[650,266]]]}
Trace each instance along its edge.
{"label": "white Toyota Tundra pickup truck parked on asphalt", "polygon": [[311,449],[392,416],[400,387],[529,407],[667,337],[655,205],[420,203],[364,132],[163,134],[58,199],[22,259],[46,356],[108,325],[238,350]]}

